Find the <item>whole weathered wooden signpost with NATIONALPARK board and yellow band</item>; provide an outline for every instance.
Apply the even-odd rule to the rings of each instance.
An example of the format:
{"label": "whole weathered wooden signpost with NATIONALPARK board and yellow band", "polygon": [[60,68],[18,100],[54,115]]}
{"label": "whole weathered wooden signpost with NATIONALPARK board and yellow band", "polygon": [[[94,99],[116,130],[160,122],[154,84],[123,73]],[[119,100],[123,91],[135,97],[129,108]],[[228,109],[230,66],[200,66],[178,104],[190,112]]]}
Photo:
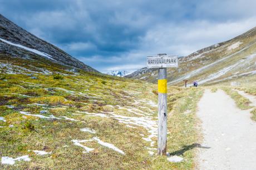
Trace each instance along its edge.
{"label": "whole weathered wooden signpost with NATIONALPARK board and yellow band", "polygon": [[166,68],[177,68],[178,56],[158,54],[147,56],[147,68],[158,70],[158,137],[157,154],[166,156],[167,143],[167,79]]}

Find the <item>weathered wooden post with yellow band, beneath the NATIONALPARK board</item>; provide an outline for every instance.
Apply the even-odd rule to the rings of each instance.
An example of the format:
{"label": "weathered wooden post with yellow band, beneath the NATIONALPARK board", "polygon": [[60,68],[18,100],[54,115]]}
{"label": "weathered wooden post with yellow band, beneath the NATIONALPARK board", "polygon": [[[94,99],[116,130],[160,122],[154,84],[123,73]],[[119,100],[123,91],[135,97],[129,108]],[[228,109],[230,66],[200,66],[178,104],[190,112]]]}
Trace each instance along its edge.
{"label": "weathered wooden post with yellow band, beneath the NATIONALPARK board", "polygon": [[167,143],[167,79],[166,68],[158,70],[158,138],[157,154],[166,156]]}

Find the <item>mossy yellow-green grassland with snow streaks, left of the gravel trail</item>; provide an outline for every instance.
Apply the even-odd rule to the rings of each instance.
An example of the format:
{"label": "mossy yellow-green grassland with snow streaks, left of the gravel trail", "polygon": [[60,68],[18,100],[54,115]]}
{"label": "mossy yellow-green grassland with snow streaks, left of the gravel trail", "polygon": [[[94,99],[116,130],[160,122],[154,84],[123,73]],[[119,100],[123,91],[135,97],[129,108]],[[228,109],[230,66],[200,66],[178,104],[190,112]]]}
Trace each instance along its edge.
{"label": "mossy yellow-green grassland with snow streaks, left of the gravel trail", "polygon": [[169,87],[168,152],[184,158],[170,163],[155,154],[155,84],[4,54],[0,66],[1,169],[195,167],[203,90]]}

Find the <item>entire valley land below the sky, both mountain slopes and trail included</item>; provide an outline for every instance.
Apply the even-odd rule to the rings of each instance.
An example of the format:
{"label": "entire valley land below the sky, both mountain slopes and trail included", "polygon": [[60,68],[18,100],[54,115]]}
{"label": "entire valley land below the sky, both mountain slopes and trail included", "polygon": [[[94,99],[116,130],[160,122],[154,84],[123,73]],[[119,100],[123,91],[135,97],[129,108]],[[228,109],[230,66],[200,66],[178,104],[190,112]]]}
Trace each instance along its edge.
{"label": "entire valley land below the sky, both mountain slopes and trail included", "polygon": [[[242,168],[255,159],[255,30],[168,70],[168,154],[157,156],[156,69],[99,73],[0,15],[0,169]],[[246,159],[227,163],[237,143]]]}

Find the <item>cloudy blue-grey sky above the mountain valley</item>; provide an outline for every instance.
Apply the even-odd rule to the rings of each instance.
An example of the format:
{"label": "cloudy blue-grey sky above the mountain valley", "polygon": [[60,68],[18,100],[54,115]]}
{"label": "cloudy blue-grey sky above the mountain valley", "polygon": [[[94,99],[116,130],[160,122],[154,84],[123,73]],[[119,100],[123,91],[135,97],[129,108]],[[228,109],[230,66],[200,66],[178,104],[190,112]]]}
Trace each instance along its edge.
{"label": "cloudy blue-grey sky above the mountain valley", "polygon": [[93,68],[134,71],[256,26],[255,0],[0,0],[0,13]]}

